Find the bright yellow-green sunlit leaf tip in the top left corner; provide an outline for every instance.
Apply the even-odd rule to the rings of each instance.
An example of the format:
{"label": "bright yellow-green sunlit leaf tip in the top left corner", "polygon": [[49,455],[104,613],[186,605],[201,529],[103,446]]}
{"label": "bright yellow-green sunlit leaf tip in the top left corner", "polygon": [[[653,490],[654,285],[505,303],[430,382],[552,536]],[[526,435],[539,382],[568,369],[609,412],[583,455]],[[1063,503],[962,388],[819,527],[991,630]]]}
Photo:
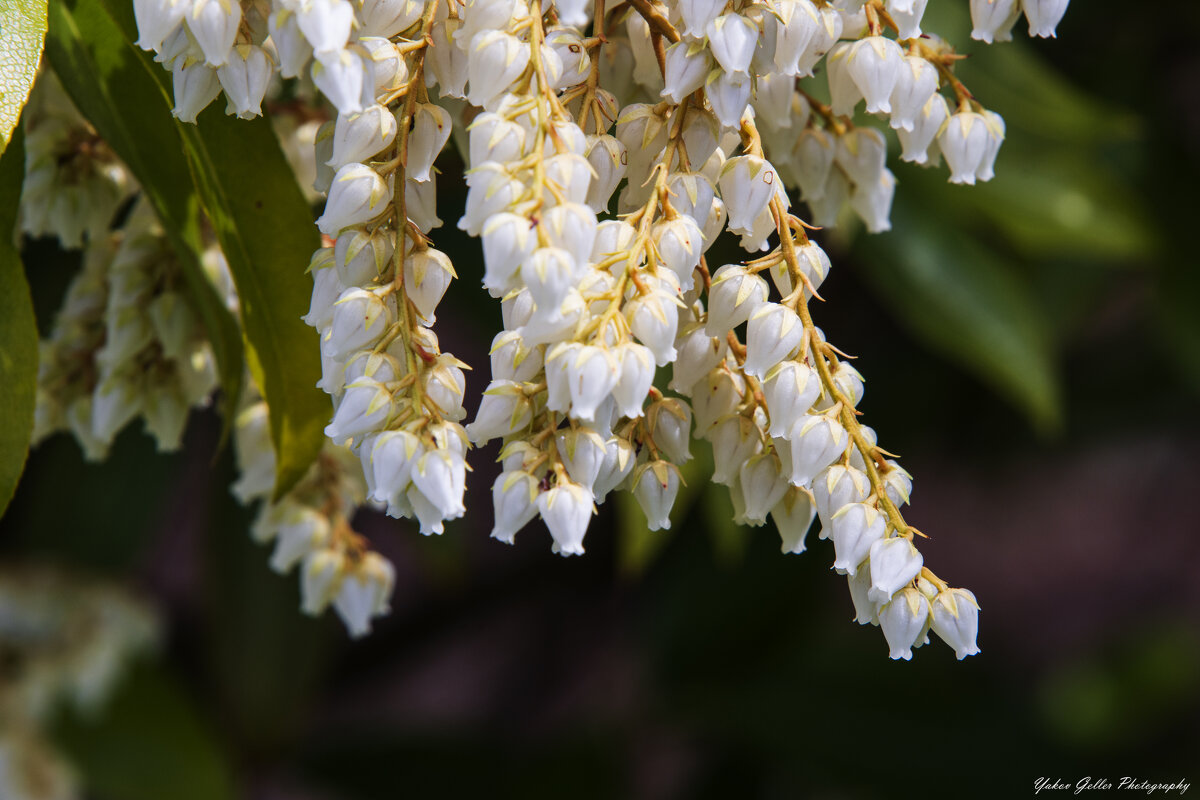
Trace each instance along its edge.
{"label": "bright yellow-green sunlit leaf tip in the top left corner", "polygon": [[44,41],[46,0],[0,2],[0,152],[8,146],[29,100]]}

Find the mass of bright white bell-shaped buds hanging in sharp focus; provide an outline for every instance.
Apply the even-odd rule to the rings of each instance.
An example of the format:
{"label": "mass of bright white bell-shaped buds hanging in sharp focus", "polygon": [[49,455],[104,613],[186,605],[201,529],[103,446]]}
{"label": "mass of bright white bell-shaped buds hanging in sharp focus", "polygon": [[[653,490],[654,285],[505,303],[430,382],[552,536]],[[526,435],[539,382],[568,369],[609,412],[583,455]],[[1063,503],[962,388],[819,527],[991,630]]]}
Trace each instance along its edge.
{"label": "mass of bright white bell-shaped buds hanging in sharp focus", "polygon": [[[887,128],[901,158],[944,160],[950,182],[992,178],[1003,120],[922,29],[926,5],[136,2],[139,43],[175,72],[182,119],[218,84],[230,113],[256,113],[275,65],[310,74],[337,110],[314,134],[326,242],[306,319],[335,403],[326,434],[358,456],[368,501],[440,533],[464,511],[467,441],[500,439],[492,535],[511,542],[540,516],[553,549],[578,554],[613,491],[631,492],[650,528],[670,525],[695,423],[738,522],[774,519],[798,553],[820,516],[857,619],[880,625],[896,658],[929,630],[959,657],[978,651],[978,606],[924,565],[900,511],[911,477],[859,422],[863,378],[812,323],[830,264],[787,187],[811,222],[848,207],[888,229]],[[973,36],[1003,41],[1021,13],[1052,36],[1066,7],[971,0]],[[857,125],[859,113],[887,127]],[[431,327],[456,277],[430,233],[433,163],[457,116],[469,120],[458,227],[482,241],[504,323],[466,429],[464,365]],[[750,258],[710,271],[722,231]],[[655,386],[667,366],[674,396]]]}

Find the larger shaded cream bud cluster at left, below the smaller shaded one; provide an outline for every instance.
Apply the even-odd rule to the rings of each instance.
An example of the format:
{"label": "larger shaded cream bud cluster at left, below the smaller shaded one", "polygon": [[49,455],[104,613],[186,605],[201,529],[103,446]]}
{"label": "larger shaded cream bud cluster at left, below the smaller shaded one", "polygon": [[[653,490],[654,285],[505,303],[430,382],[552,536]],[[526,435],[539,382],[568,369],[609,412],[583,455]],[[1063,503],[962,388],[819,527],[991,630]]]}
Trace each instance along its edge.
{"label": "larger shaded cream bud cluster at left, below the smaller shaded one", "polygon": [[[205,261],[221,271],[214,251]],[[89,245],[42,343],[34,440],[71,431],[92,461],[142,416],[158,450],[178,450],[188,411],[216,387],[212,351],[166,234],[144,200]]]}

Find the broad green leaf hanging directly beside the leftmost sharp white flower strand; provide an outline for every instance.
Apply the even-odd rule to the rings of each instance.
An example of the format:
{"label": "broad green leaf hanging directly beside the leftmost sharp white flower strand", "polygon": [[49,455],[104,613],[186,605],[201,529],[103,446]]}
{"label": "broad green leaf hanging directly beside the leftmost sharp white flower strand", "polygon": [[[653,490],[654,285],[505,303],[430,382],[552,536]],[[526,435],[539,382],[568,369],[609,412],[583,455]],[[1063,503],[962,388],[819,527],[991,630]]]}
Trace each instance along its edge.
{"label": "broad green leaf hanging directly beside the leftmost sharp white flower strand", "polygon": [[317,389],[317,332],[300,319],[312,291],[305,270],[320,240],[265,119],[239,120],[211,107],[198,126],[181,128],[238,284],[250,365],[271,415],[278,498],[317,458],[331,413],[329,398]]}

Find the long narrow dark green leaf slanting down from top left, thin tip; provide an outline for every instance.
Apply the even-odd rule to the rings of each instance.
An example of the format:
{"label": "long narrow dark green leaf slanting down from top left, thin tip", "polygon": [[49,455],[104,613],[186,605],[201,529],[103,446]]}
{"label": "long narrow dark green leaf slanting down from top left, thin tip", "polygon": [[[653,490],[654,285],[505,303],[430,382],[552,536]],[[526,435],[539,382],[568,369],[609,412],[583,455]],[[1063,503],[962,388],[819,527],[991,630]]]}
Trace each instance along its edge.
{"label": "long narrow dark green leaf slanting down from top left, thin tip", "polygon": [[100,0],[55,0],[46,52],[79,112],[130,167],[167,230],[204,323],[232,423],[242,381],[238,323],[209,282],[198,253],[200,205],[162,85]]}

